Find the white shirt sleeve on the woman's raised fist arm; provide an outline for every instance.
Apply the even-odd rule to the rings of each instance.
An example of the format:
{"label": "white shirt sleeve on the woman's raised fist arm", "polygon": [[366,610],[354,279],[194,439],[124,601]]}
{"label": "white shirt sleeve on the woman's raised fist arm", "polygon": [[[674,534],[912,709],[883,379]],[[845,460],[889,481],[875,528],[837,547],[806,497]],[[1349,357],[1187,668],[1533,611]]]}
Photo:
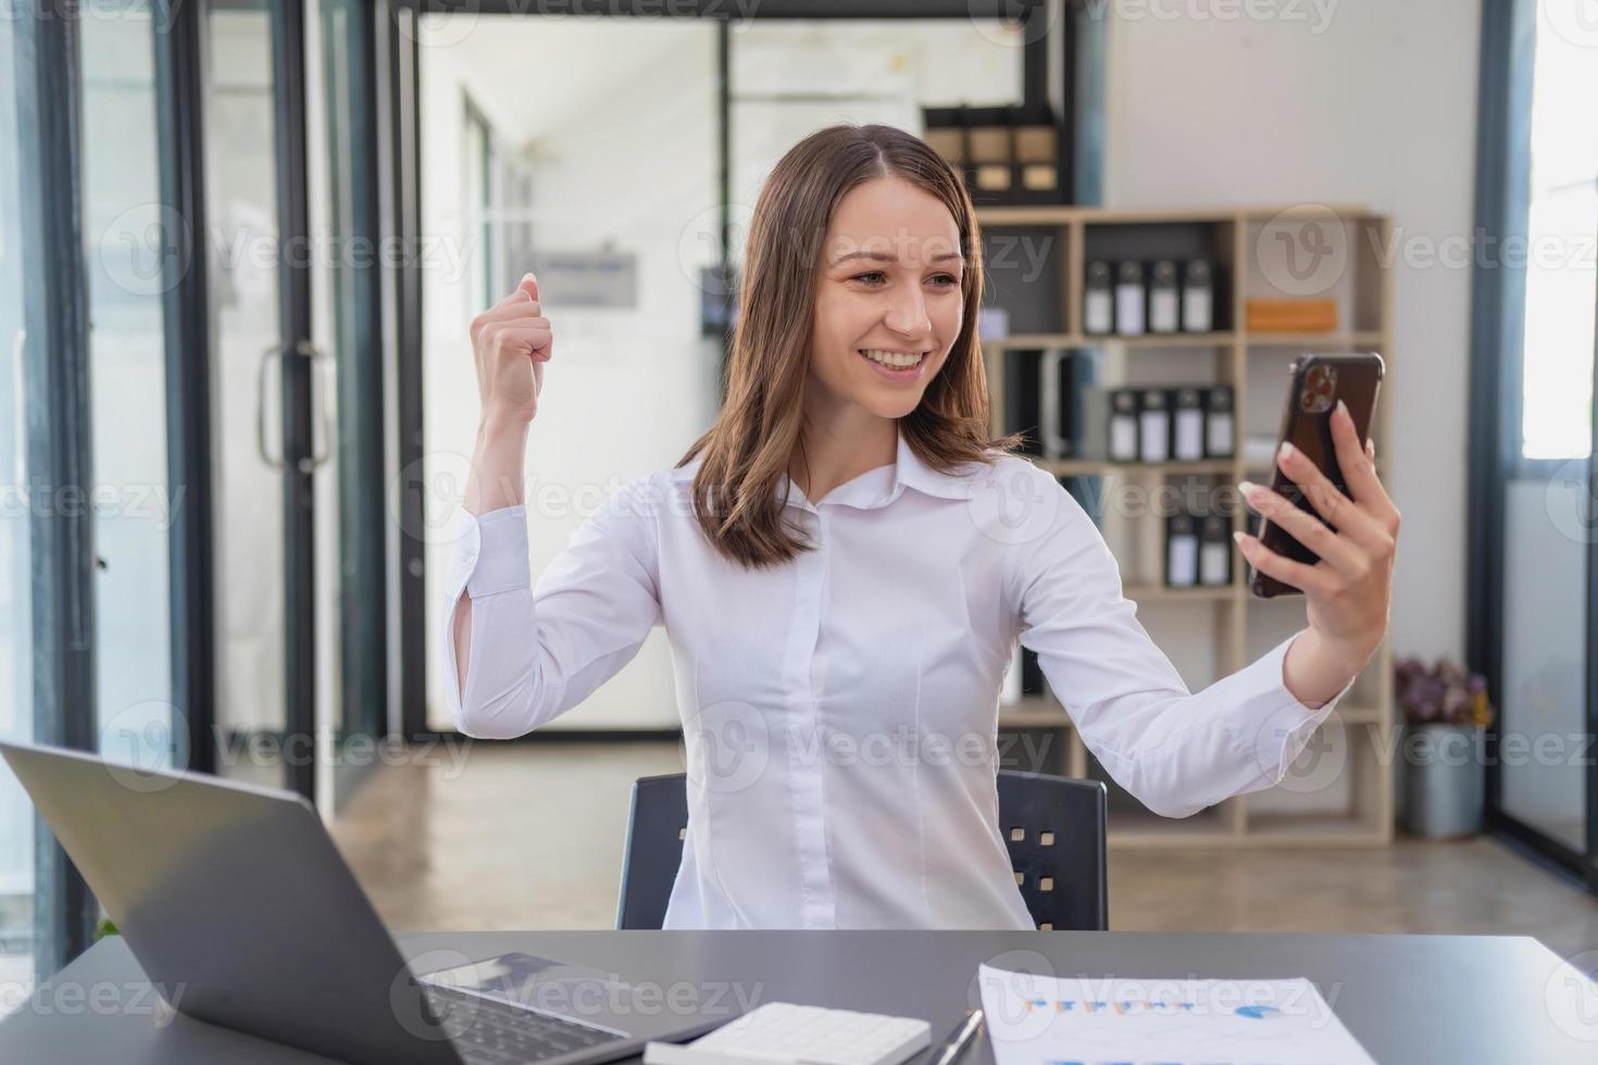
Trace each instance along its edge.
{"label": "white shirt sleeve on the woman's raised fist arm", "polygon": [[[527,513],[462,516],[444,615],[449,717],[467,736],[510,739],[577,706],[660,624],[655,497],[644,477],[609,493],[529,589]],[[467,683],[454,618],[471,596]]]}

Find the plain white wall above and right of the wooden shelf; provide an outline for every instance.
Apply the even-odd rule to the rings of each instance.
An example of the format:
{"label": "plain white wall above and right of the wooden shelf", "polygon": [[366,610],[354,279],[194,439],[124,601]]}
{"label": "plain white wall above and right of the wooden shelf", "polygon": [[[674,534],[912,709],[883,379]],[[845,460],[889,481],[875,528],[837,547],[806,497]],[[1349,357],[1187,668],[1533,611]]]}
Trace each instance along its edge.
{"label": "plain white wall above and right of the wooden shelf", "polygon": [[[1478,3],[1322,6],[1222,21],[1222,5],[1109,3],[1106,204],[1358,203],[1400,240],[1469,235]],[[1400,255],[1393,299],[1393,439],[1376,441],[1405,514],[1392,637],[1400,655],[1462,658],[1470,270]]]}

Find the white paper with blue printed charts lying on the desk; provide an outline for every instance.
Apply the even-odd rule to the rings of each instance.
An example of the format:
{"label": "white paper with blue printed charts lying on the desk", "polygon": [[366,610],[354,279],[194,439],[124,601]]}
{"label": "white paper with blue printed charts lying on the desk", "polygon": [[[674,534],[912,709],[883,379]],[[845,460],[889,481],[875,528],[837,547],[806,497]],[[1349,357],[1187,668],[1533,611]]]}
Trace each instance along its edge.
{"label": "white paper with blue printed charts lying on the desk", "polygon": [[1306,979],[978,980],[997,1065],[1374,1065]]}

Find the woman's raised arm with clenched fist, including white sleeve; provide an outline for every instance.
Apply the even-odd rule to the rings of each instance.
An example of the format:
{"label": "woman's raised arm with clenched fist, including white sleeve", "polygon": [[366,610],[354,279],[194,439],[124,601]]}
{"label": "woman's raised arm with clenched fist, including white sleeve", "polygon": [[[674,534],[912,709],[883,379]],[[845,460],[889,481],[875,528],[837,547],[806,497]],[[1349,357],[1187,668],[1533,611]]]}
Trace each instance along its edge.
{"label": "woman's raised arm with clenched fist, including white sleeve", "polygon": [[455,726],[527,733],[625,666],[660,621],[650,479],[604,501],[529,591],[523,455],[550,324],[532,275],[471,323],[483,415],[449,578],[446,688]]}

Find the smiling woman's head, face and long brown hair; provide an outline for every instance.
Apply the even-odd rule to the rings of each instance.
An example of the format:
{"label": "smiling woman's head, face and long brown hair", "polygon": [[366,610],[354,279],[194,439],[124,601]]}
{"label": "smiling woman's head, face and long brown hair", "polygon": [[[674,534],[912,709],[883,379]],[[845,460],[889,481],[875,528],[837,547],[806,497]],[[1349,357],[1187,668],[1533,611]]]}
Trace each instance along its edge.
{"label": "smiling woman's head, face and long brown hair", "polygon": [[820,500],[892,463],[898,431],[944,473],[1020,442],[988,439],[981,283],[970,196],[919,137],[831,126],[781,158],[754,206],[727,402],[679,461],[703,457],[695,511],[724,556],[793,559],[778,479]]}

